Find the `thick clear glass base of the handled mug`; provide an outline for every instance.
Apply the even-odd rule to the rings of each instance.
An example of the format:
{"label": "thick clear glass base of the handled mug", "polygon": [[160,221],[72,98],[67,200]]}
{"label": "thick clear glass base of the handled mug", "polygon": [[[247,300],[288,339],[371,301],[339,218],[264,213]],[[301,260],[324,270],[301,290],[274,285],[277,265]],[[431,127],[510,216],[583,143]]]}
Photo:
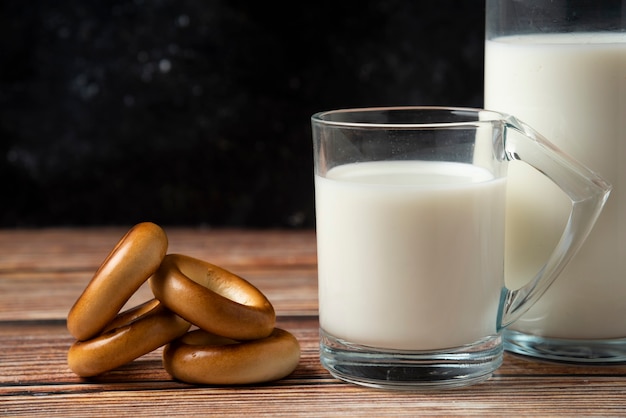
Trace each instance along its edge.
{"label": "thick clear glass base of the handled mug", "polygon": [[334,377],[362,386],[428,390],[487,380],[502,364],[502,336],[439,351],[385,350],[350,344],[320,329],[320,361]]}

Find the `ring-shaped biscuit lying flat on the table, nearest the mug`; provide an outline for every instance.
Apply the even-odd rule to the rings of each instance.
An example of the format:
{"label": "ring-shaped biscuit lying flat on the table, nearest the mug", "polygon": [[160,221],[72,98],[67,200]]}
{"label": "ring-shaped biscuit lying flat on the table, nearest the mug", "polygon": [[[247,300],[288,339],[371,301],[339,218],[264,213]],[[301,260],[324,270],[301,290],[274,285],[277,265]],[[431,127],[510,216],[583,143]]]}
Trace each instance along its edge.
{"label": "ring-shaped biscuit lying flat on the table, nearest the mug", "polygon": [[163,349],[163,365],[172,377],[204,385],[242,385],[282,379],[300,361],[300,345],[275,328],[265,338],[236,342],[203,330],[188,332]]}

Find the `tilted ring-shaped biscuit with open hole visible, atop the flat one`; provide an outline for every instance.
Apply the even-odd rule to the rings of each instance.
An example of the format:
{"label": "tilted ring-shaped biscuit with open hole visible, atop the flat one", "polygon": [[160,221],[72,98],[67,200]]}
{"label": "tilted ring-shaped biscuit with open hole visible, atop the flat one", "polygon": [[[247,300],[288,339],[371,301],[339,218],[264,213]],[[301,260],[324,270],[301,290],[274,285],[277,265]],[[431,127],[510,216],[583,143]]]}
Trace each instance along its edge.
{"label": "tilted ring-shaped biscuit with open hole visible, atop the flat one", "polygon": [[150,278],[154,296],[205,331],[234,340],[270,335],[276,314],[270,301],[245,279],[213,264],[168,254]]}

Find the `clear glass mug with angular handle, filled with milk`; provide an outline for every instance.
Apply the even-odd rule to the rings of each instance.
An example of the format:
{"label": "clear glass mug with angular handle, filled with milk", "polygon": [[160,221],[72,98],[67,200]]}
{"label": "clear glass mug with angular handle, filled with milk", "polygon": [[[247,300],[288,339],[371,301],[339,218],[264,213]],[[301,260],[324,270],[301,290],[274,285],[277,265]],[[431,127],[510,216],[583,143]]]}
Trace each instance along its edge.
{"label": "clear glass mug with angular handle, filled with milk", "polygon": [[[489,378],[502,362],[502,328],[581,245],[610,186],[496,112],[338,110],[313,115],[312,130],[323,366],[390,389]],[[523,163],[552,179],[571,210],[540,274],[509,290],[507,166]]]}

